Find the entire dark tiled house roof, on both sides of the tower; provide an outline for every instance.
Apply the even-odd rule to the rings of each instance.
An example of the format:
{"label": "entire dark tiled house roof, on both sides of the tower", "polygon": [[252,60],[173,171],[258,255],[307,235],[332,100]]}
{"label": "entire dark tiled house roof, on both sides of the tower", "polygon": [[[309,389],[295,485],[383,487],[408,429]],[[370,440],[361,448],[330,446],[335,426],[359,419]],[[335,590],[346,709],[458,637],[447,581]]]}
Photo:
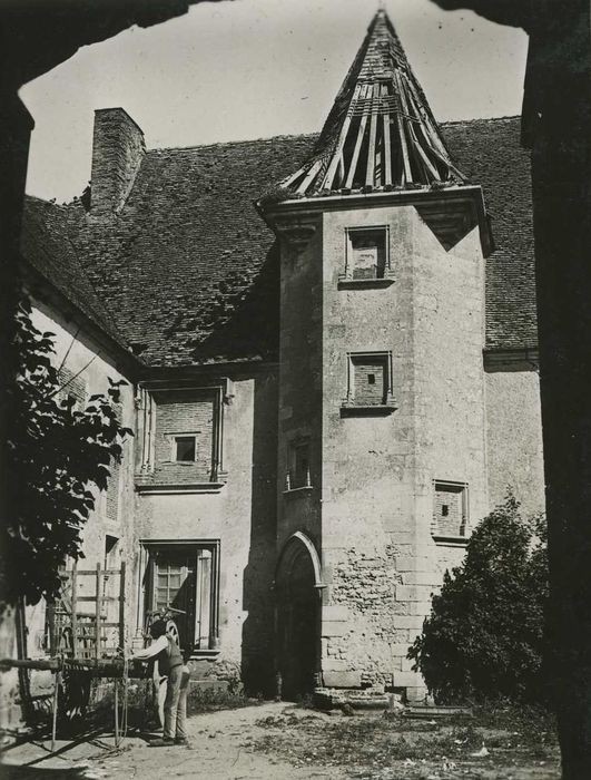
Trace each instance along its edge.
{"label": "entire dark tiled house roof, on both sides of the tower", "polygon": [[[530,166],[520,119],[441,129],[460,169],[482,184],[492,217],[498,248],[486,261],[486,344],[534,347]],[[154,367],[275,360],[277,252],[253,202],[297,169],[315,140],[280,136],[149,150],[110,221],[89,216],[79,201],[56,206],[29,198],[23,253]],[[75,252],[63,241],[66,222]]]}

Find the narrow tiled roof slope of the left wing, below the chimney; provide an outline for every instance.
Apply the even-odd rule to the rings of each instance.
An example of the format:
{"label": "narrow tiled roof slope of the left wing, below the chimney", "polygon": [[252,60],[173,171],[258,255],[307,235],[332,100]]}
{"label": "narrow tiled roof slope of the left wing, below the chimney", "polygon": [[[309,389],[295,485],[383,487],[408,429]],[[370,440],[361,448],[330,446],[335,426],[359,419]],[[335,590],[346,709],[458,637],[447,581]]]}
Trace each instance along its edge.
{"label": "narrow tiled roof slope of the left wing, below the chimney", "polygon": [[21,254],[32,269],[119,347],[129,350],[111,314],[82,269],[68,230],[68,206],[27,197]]}

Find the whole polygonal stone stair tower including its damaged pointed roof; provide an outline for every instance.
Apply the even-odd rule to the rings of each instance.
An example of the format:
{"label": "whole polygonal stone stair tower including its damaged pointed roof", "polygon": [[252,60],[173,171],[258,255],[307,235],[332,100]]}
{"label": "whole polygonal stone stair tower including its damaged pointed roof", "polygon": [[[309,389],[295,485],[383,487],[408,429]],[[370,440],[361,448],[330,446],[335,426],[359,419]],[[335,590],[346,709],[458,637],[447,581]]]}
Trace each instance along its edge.
{"label": "whole polygonal stone stair tower including its damaged pointed roof", "polygon": [[259,202],[280,246],[277,664],[284,694],[408,699],[406,660],[487,510],[481,188],[384,11],[314,154]]}

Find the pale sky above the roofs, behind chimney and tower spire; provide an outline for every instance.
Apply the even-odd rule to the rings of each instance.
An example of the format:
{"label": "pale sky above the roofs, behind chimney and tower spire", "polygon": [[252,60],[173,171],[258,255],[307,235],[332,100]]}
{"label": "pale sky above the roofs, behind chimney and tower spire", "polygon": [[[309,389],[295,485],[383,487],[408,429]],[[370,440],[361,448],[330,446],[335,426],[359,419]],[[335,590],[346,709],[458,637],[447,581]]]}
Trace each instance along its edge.
{"label": "pale sky above the roofs, behind chimney and tower spire", "polygon": [[[437,120],[520,114],[523,31],[431,0],[382,6]],[[82,193],[96,108],[125,108],[148,148],[318,131],[377,8],[377,0],[201,2],[83,47],[21,89],[36,123],[27,192],[58,203]]]}

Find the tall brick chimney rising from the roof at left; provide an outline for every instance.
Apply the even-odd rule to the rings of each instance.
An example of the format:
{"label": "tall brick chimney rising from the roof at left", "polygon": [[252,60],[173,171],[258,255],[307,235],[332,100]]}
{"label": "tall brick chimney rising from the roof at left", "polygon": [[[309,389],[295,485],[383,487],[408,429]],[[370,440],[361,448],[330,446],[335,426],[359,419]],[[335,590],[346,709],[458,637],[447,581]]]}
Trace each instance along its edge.
{"label": "tall brick chimney rising from the roof at left", "polygon": [[146,153],[144,133],[122,108],[95,111],[90,214],[119,212]]}

